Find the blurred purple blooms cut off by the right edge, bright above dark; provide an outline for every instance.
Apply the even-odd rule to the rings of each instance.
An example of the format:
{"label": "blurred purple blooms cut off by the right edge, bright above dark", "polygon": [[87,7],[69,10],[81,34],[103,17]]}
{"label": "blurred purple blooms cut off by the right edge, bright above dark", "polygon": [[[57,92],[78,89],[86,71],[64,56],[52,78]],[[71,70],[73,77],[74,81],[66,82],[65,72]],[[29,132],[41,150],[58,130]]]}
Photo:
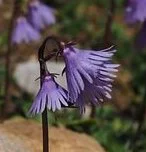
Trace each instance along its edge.
{"label": "blurred purple blooms cut off by the right edge, bright above dark", "polygon": [[138,48],[146,47],[146,0],[126,0],[125,21],[127,24],[142,23],[136,37]]}

